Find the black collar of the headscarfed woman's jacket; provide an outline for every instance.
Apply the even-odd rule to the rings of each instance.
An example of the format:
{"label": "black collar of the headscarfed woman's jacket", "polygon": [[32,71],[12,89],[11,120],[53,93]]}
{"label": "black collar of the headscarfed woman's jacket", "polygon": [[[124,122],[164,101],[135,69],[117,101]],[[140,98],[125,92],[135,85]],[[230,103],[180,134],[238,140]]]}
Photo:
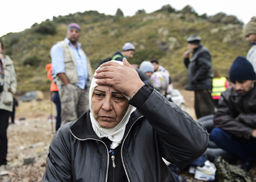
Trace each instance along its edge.
{"label": "black collar of the headscarfed woman's jacket", "polygon": [[[125,134],[128,133],[131,126],[133,126],[133,123],[137,121],[142,117],[142,114],[138,112],[138,110],[131,113],[131,117],[128,121],[128,124],[126,125]],[[85,112],[78,120],[76,120],[70,127],[71,133],[79,140],[85,140],[88,138],[98,139],[100,138],[96,135],[96,133],[93,131],[92,123],[90,120],[90,111]]]}

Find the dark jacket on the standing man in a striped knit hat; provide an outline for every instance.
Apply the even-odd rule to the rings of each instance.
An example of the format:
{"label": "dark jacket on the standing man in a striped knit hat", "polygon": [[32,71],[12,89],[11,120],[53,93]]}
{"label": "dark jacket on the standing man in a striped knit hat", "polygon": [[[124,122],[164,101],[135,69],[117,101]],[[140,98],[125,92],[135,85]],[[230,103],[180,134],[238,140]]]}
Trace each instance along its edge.
{"label": "dark jacket on the standing man in a striped knit hat", "polygon": [[212,89],[211,54],[206,47],[199,45],[194,49],[192,58],[185,58],[184,63],[188,69],[186,90]]}

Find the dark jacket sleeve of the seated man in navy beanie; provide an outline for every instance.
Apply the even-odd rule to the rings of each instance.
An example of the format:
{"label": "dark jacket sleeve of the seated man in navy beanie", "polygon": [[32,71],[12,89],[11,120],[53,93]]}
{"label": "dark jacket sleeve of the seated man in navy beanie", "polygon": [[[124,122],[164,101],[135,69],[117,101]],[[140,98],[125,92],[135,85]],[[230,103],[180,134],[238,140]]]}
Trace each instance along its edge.
{"label": "dark jacket sleeve of the seated man in navy beanie", "polygon": [[[240,118],[245,119],[245,116],[242,114]],[[251,137],[253,128],[244,124],[244,122],[239,121],[237,111],[235,110],[235,108],[233,108],[232,104],[228,101],[228,99],[225,98],[223,94],[221,95],[218,102],[218,108],[214,115],[213,121],[215,127],[221,128],[228,133],[234,134],[237,137],[243,137],[246,139],[249,139]]]}

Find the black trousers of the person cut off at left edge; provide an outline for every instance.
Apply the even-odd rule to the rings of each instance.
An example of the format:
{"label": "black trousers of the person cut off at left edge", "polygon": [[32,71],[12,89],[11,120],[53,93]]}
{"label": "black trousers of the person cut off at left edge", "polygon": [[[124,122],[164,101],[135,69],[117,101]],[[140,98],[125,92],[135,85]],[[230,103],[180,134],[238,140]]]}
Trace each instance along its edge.
{"label": "black trousers of the person cut off at left edge", "polygon": [[10,114],[10,111],[0,109],[0,165],[7,162],[7,128]]}

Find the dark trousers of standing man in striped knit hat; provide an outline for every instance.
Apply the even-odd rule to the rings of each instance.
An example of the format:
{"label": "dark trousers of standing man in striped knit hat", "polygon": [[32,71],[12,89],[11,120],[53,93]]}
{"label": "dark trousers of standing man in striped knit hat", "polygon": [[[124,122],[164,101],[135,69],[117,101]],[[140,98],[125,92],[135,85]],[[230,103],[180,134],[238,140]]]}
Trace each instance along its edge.
{"label": "dark trousers of standing man in striped knit hat", "polygon": [[197,119],[214,114],[214,107],[211,90],[195,90],[195,115]]}

